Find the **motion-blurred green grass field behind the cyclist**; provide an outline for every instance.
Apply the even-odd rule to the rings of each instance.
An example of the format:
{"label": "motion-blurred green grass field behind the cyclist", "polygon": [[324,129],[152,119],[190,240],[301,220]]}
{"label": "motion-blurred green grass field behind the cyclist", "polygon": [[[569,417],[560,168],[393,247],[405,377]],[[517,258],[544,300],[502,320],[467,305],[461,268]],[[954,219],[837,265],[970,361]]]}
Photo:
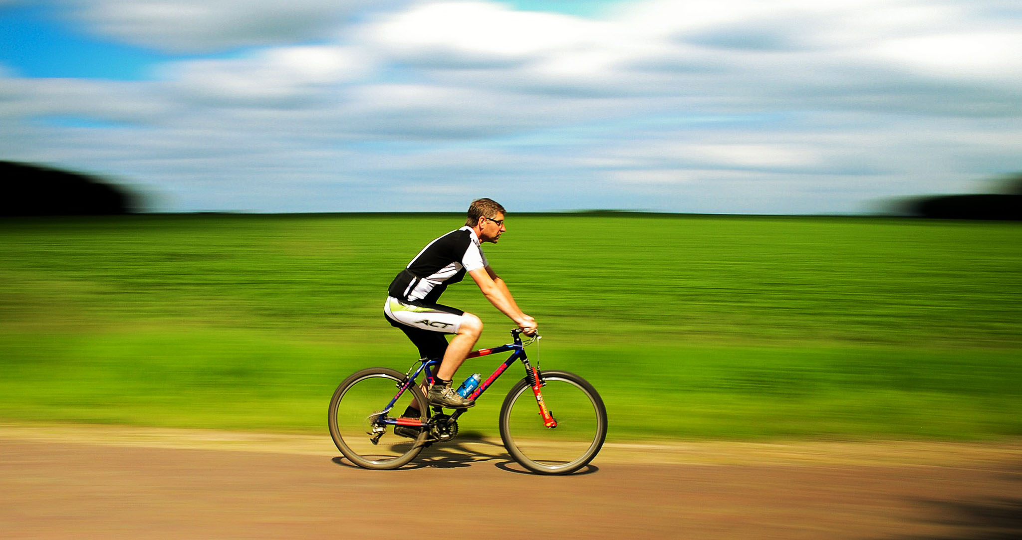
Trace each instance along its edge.
{"label": "motion-blurred green grass field behind the cyclist", "polygon": [[[0,220],[0,421],[325,434],[347,374],[414,360],[386,286],[459,222]],[[512,213],[508,229],[486,255],[540,322],[530,357],[594,383],[611,440],[1022,435],[1019,224]],[[471,280],[444,299],[483,318],[480,346],[507,341]],[[496,435],[518,378],[462,431]]]}

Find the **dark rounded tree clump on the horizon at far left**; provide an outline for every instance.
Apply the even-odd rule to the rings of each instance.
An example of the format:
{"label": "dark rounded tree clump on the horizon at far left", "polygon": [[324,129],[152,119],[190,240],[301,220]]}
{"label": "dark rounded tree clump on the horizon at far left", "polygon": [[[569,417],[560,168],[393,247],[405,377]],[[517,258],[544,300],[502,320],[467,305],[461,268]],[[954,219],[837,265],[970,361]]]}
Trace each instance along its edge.
{"label": "dark rounded tree clump on the horizon at far left", "polygon": [[141,202],[87,175],[14,161],[0,161],[0,215],[111,215],[138,211]]}

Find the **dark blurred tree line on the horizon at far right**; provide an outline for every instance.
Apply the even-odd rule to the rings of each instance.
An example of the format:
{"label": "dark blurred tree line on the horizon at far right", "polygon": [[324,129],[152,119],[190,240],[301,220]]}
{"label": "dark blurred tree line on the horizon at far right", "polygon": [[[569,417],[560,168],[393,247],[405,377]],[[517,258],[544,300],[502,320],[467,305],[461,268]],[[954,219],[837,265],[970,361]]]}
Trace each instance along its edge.
{"label": "dark blurred tree line on the horizon at far right", "polygon": [[1004,182],[1002,193],[934,195],[908,201],[909,215],[938,219],[1022,220],[1022,175]]}

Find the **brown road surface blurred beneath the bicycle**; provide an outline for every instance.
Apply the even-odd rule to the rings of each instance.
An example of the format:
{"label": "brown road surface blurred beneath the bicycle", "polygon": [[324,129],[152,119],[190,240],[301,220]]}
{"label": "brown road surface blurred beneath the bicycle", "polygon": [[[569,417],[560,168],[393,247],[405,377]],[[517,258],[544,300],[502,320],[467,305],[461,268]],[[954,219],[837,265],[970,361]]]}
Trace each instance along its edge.
{"label": "brown road surface blurred beneath the bicycle", "polygon": [[569,477],[492,441],[401,471],[338,456],[328,436],[0,426],[0,537],[1022,538],[1018,443],[610,445]]}

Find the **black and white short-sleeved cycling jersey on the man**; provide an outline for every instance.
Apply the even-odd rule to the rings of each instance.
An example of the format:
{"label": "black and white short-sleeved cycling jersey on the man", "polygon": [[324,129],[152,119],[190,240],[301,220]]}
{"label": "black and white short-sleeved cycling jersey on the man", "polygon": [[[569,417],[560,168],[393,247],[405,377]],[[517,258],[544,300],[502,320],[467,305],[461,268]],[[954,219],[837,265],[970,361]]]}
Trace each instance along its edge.
{"label": "black and white short-sleeved cycling jersey on the man", "polygon": [[466,272],[489,264],[475,232],[465,226],[422,248],[394,277],[387,294],[404,302],[435,303],[448,285],[462,281]]}

